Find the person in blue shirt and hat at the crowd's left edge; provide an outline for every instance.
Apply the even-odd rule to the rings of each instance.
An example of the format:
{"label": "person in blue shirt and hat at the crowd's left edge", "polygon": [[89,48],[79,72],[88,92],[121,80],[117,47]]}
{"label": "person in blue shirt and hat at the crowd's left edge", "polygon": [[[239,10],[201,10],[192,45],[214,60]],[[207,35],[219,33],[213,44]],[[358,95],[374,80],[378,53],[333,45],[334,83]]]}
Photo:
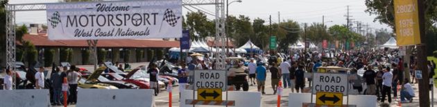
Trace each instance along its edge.
{"label": "person in blue shirt and hat at the crowd's left edge", "polygon": [[261,91],[262,94],[266,94],[266,92],[264,92],[264,85],[266,85],[267,69],[263,65],[264,63],[260,61],[255,73],[257,74],[258,92]]}

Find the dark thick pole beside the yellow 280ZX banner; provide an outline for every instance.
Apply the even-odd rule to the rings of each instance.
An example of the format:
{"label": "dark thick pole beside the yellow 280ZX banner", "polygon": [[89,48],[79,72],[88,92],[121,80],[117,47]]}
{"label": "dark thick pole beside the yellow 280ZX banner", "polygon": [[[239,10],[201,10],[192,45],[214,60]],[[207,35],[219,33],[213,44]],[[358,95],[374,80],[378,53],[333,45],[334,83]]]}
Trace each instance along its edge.
{"label": "dark thick pole beside the yellow 280ZX banner", "polygon": [[[420,29],[420,43],[418,49],[418,70],[422,71],[422,79],[419,79],[419,106],[429,107],[429,78],[427,67],[427,35],[425,35],[425,8],[424,0],[418,0],[418,18]],[[432,87],[432,85],[431,85]],[[433,99],[434,100],[434,99]]]}

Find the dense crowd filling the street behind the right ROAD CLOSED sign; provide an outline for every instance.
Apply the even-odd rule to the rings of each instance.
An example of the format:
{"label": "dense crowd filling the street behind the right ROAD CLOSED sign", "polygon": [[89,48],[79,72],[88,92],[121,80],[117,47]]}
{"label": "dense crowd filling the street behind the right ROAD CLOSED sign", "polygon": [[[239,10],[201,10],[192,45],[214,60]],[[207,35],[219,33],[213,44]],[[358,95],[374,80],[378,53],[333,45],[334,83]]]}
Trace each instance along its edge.
{"label": "dense crowd filling the street behind the right ROAD CLOSED sign", "polygon": [[[392,99],[400,99],[402,103],[413,101],[415,93],[412,85],[417,83],[415,70],[417,58],[411,55],[411,62],[403,62],[398,55],[398,50],[354,50],[354,51],[325,51],[325,52],[284,52],[288,58],[267,56],[268,72],[271,72],[271,85],[273,94],[276,94],[278,81],[282,81],[283,88],[290,88],[291,92],[303,92],[311,87],[311,78],[305,78],[305,72],[320,72],[318,67],[336,66],[350,70],[351,90],[357,90],[357,94],[376,95],[377,100],[391,103]],[[265,74],[264,69],[255,63],[254,59],[248,64],[250,85],[257,84],[258,90],[264,92]],[[404,65],[410,65],[404,67]],[[428,61],[429,78],[434,76],[436,65],[434,60]],[[359,74],[358,71],[364,71]],[[406,76],[405,73],[410,72]],[[337,71],[347,73],[346,71]],[[282,80],[281,80],[282,79]],[[415,82],[413,82],[415,80]],[[257,81],[257,82],[255,82]],[[259,82],[262,81],[262,82]],[[308,86],[305,83],[308,81]],[[410,82],[411,81],[411,82]],[[261,87],[261,88],[260,88]],[[429,85],[431,90],[432,85]]]}

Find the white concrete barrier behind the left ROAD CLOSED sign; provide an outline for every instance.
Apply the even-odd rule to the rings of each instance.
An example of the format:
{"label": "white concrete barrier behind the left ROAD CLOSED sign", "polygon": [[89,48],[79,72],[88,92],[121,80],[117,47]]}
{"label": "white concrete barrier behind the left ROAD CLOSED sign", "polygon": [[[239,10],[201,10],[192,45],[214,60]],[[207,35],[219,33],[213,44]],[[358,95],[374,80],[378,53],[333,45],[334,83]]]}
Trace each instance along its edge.
{"label": "white concrete barrier behind the left ROAD CLOSED sign", "polygon": [[[192,107],[193,105],[185,104],[185,99],[193,99],[193,90],[182,90],[180,99],[180,107]],[[197,99],[197,92],[194,93]],[[222,92],[222,99],[226,99],[226,92]],[[262,107],[261,92],[242,92],[228,91],[228,100],[235,101],[235,107]],[[207,105],[196,105],[196,107],[218,107]]]}

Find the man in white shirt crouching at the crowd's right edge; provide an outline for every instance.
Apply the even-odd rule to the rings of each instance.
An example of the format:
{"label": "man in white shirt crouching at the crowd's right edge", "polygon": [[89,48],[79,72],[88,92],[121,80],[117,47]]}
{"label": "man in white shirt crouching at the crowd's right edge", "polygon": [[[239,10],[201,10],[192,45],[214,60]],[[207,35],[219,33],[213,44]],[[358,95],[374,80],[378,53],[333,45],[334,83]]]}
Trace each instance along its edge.
{"label": "man in white shirt crouching at the crowd's right edge", "polygon": [[404,83],[402,83],[402,90],[400,91],[401,94],[401,103],[406,103],[407,101],[405,99],[408,99],[411,103],[413,101],[413,97],[415,96],[413,87],[411,86],[408,79],[404,80]]}

